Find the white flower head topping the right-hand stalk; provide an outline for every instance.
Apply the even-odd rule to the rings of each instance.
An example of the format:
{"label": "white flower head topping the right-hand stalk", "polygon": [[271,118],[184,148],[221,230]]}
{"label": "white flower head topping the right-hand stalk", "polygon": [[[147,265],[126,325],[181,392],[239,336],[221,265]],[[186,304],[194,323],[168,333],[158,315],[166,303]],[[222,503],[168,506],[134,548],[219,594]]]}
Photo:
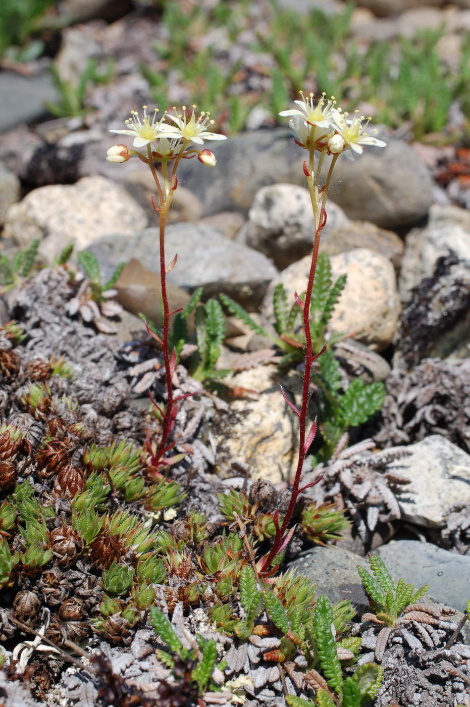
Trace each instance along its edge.
{"label": "white flower head topping the right-hand stalk", "polygon": [[292,117],[290,131],[300,147],[318,151],[326,148],[330,155],[344,152],[352,159],[353,152],[362,153],[363,145],[385,147],[382,140],[365,132],[370,118],[359,116],[357,111],[352,119],[349,118],[348,113],[336,107],[334,97],[326,100],[324,93],[318,100],[313,93],[307,98],[302,92],[300,95],[301,100],[294,101],[298,108],[279,113]]}

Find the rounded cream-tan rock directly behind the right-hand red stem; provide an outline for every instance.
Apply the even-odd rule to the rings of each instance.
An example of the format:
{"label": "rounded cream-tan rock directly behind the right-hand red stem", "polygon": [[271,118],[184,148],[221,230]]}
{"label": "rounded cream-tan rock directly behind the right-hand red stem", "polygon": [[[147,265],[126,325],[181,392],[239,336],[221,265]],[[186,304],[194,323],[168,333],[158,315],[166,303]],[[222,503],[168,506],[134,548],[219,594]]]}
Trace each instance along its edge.
{"label": "rounded cream-tan rock directly behind the right-hand red stem", "polygon": [[[286,287],[289,301],[295,291],[307,288],[310,255],[283,270],[269,285],[262,306],[263,320],[273,317],[272,296],[279,282]],[[328,325],[330,332],[353,334],[356,339],[378,351],[392,341],[400,303],[392,263],[380,253],[356,248],[331,257],[331,271],[336,280],[346,273],[346,287]]]}

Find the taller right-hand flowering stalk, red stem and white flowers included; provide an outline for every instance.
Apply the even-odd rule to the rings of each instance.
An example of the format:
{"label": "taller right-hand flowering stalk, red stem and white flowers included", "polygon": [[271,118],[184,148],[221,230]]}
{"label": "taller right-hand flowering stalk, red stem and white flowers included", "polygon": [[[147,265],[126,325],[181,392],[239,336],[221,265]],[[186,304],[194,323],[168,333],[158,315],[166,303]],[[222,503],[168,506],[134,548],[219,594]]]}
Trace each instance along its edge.
{"label": "taller right-hand flowering stalk, red stem and white flowers included", "polygon": [[[311,484],[306,484],[300,487],[300,479],[302,477],[302,467],[305,462],[307,452],[315,439],[317,432],[317,420],[312,423],[310,431],[307,434],[307,407],[310,399],[310,376],[312,375],[312,366],[323,354],[326,345],[321,351],[314,354],[312,346],[312,333],[310,330],[310,300],[312,298],[313,284],[315,281],[315,271],[317,269],[317,261],[319,254],[320,240],[322,230],[327,223],[327,211],[325,208],[331,175],[334,170],[334,165],[339,155],[351,149],[356,153],[362,152],[362,144],[384,146],[385,144],[376,138],[369,136],[363,132],[363,125],[357,116],[353,120],[348,120],[347,114],[341,115],[341,111],[335,107],[334,98],[326,101],[324,95],[314,104],[314,97],[310,94],[309,98],[305,98],[301,94],[302,100],[295,101],[300,106],[299,109],[286,110],[281,112],[281,115],[291,115],[293,119],[290,121],[290,129],[292,130],[295,142],[302,148],[305,148],[309,154],[308,165],[307,161],[303,163],[303,171],[307,177],[307,186],[312,202],[312,211],[314,217],[314,239],[312,248],[312,259],[310,261],[310,271],[308,275],[307,292],[305,300],[302,302],[298,293],[294,295],[295,302],[302,310],[302,320],[305,332],[305,367],[302,380],[302,404],[300,410],[293,403],[288,401],[283,392],[284,399],[293,409],[299,418],[299,450],[298,461],[293,479],[292,494],[286,515],[283,518],[282,525],[278,522],[278,511],[274,515],[274,525],[276,527],[276,535],[271,550],[259,561],[260,575],[267,576],[273,570],[271,568],[272,561],[279,553],[286,548],[293,536],[295,526],[290,528],[290,519],[293,516],[295,506],[298,502],[299,495],[302,491],[315,486],[322,480],[322,476],[313,481]],[[315,153],[319,153],[317,165],[315,165]],[[320,178],[324,158],[331,156],[331,163],[327,173],[327,178],[323,186],[320,185]]]}

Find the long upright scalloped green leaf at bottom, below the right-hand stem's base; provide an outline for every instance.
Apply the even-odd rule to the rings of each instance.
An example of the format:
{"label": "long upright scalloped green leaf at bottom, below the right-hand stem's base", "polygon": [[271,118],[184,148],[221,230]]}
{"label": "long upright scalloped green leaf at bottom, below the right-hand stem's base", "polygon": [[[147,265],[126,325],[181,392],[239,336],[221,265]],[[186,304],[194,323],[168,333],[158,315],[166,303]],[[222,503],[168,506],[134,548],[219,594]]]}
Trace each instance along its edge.
{"label": "long upright scalloped green leaf at bottom, below the right-hand stem's base", "polygon": [[315,643],[324,677],[331,689],[341,693],[343,671],[336,651],[336,641],[331,633],[331,624],[333,624],[333,609],[327,595],[322,594],[317,600],[313,617]]}

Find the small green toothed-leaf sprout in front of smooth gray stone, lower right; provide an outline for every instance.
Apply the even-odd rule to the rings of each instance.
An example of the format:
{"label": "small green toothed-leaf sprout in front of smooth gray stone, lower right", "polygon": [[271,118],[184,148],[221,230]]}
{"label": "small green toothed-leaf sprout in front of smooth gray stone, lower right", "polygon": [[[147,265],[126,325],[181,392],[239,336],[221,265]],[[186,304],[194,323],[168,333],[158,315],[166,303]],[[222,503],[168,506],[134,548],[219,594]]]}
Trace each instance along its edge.
{"label": "small green toothed-leaf sprout in front of smooth gray stone, lower right", "polygon": [[370,598],[377,619],[386,626],[394,626],[401,612],[409,604],[418,602],[428,591],[429,585],[415,590],[412,584],[405,584],[403,579],[395,584],[384,561],[378,555],[368,554],[368,561],[372,575],[358,566],[364,590]]}

